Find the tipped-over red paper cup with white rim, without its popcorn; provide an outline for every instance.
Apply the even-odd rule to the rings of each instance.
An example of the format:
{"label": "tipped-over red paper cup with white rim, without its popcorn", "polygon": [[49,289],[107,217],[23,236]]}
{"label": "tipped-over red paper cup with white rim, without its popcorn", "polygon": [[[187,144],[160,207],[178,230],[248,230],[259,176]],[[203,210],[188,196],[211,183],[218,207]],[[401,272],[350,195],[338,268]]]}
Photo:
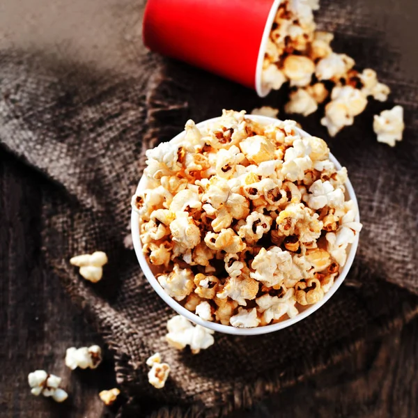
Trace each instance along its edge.
{"label": "tipped-over red paper cup with white rim, without its popcorn", "polygon": [[264,97],[261,72],[281,0],[148,0],[145,45],[254,88]]}

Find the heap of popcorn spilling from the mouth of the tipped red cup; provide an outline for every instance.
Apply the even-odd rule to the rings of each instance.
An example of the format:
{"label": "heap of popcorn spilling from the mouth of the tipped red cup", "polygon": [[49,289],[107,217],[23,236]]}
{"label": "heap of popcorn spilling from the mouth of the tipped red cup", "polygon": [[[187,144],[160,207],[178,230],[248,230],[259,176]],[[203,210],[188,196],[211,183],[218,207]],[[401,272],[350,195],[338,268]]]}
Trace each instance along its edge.
{"label": "heap of popcorn spilling from the mouth of the tipped red cup", "polygon": [[318,8],[319,1],[280,3],[265,49],[261,82],[264,91],[279,90],[286,82],[293,87],[285,105],[288,114],[308,116],[328,100],[321,122],[334,137],[353,124],[368,98],[386,101],[390,88],[378,82],[375,71],[359,72],[352,57],[333,51],[334,35],[316,30],[313,12]]}

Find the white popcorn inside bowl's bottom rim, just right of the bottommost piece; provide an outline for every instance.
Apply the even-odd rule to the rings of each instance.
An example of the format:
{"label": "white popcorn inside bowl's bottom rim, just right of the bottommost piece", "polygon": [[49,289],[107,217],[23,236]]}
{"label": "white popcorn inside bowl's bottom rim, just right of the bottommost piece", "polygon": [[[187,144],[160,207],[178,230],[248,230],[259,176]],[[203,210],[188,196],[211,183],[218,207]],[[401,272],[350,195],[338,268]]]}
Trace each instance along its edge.
{"label": "white popcorn inside bowl's bottom rim, just right of the bottommost piece", "polygon": [[288,289],[282,297],[265,294],[256,299],[258,310],[263,313],[263,321],[270,324],[272,320],[279,320],[282,316],[288,315],[294,318],[298,311],[295,307],[295,289]]}

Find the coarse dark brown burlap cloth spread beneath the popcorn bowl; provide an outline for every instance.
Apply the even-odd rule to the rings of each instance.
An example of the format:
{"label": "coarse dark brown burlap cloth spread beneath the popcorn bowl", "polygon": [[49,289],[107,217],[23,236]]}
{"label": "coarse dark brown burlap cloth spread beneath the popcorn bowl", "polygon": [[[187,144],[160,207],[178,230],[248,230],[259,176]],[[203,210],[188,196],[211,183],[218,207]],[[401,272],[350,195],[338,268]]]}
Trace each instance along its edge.
{"label": "coarse dark brown burlap cloth spread beneath the popcorn bowl", "polygon": [[[371,102],[353,127],[332,140],[317,114],[299,118],[305,130],[327,139],[357,192],[364,229],[353,269],[330,302],[293,327],[265,336],[216,334],[215,345],[199,355],[169,348],[165,325],[174,313],[124,245],[144,150],[170,139],[187,118],[199,122],[222,108],[250,111],[281,103],[281,94],[261,100],[206,72],[147,54],[139,40],[139,5],[104,3],[111,3],[111,13],[102,13],[107,24],[96,28],[101,36],[91,56],[77,55],[77,42],[66,45],[59,36],[59,53],[50,45],[36,49],[30,36],[19,48],[3,43],[0,149],[50,180],[42,190],[45,269],[50,280],[63,282],[114,353],[127,397],[121,416],[225,415],[337,364],[364,339],[417,314],[418,85],[405,82],[396,50],[353,6],[359,3],[329,0],[322,2],[320,26],[336,32],[337,50],[378,70],[392,100],[405,108],[404,140],[394,149],[378,144],[371,127],[373,114],[392,102]],[[116,38],[111,17],[119,29],[129,29],[127,35],[118,29]],[[92,43],[89,31],[91,26],[84,40]],[[102,281],[91,285],[68,259],[97,249],[107,252],[109,265]],[[155,351],[171,365],[161,390],[149,385],[144,363]]]}

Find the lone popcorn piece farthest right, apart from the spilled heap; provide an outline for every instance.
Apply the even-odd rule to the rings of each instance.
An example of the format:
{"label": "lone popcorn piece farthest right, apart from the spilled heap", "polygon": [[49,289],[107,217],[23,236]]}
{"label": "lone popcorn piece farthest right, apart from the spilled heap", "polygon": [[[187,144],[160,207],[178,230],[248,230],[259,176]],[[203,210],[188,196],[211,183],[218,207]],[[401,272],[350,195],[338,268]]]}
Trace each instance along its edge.
{"label": "lone popcorn piece farthest right, apart from the spilled heap", "polygon": [[402,141],[405,125],[403,123],[403,107],[395,106],[392,110],[384,110],[374,116],[373,130],[378,135],[378,141],[395,146],[396,141]]}

